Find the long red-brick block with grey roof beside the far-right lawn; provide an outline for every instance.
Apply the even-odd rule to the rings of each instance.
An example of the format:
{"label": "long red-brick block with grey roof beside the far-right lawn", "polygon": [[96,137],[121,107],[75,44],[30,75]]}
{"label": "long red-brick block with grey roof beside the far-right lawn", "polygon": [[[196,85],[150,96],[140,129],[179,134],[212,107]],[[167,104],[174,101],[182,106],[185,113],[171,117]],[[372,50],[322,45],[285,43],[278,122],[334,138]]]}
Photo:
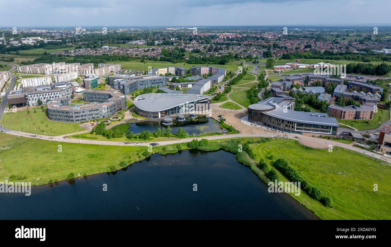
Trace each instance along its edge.
{"label": "long red-brick block with grey roof beside the far-right lawn", "polygon": [[374,106],[339,106],[331,105],[327,107],[327,114],[337,119],[373,119]]}

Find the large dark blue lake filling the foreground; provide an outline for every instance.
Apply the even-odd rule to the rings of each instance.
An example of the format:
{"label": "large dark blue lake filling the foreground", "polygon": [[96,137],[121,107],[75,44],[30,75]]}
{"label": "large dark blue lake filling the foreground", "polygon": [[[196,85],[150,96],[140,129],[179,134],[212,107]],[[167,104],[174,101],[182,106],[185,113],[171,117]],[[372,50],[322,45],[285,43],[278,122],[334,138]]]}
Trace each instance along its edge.
{"label": "large dark blue lake filling the foreground", "polygon": [[116,173],[33,187],[29,197],[0,193],[0,205],[0,219],[316,219],[222,150],[152,155]]}

